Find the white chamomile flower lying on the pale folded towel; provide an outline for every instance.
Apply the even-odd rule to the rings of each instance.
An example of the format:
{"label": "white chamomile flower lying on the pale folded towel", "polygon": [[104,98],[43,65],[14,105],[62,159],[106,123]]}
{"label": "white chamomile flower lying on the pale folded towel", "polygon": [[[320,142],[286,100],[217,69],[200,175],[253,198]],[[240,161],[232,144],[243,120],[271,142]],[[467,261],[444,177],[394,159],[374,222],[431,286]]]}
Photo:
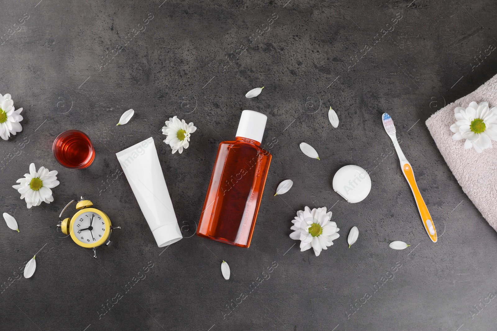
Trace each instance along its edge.
{"label": "white chamomile flower lying on the pale folded towel", "polygon": [[497,140],[497,107],[489,109],[488,102],[471,102],[468,108],[456,107],[454,116],[457,120],[450,127],[455,134],[454,140],[466,138],[465,149],[472,147],[478,153],[484,149],[492,148],[492,140]]}

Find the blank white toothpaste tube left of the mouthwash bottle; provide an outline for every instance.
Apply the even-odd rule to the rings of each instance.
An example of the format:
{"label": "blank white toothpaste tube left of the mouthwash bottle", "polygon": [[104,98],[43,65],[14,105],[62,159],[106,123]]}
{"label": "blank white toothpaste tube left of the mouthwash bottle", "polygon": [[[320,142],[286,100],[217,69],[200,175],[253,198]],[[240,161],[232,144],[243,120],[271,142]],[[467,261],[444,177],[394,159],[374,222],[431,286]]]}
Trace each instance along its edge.
{"label": "blank white toothpaste tube left of the mouthwash bottle", "polygon": [[164,247],[182,239],[154,138],[126,148],[116,156],[157,245]]}

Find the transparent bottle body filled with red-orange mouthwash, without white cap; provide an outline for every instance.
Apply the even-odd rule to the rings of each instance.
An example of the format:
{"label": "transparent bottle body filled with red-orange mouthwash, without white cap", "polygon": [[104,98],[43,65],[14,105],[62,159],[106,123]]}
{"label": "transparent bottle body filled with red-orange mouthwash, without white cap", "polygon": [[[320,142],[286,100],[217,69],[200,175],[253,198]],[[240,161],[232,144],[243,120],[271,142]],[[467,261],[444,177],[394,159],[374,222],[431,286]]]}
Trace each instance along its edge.
{"label": "transparent bottle body filled with red-orange mouthwash, without white cap", "polygon": [[198,236],[250,246],[270,162],[258,141],[236,137],[219,144]]}

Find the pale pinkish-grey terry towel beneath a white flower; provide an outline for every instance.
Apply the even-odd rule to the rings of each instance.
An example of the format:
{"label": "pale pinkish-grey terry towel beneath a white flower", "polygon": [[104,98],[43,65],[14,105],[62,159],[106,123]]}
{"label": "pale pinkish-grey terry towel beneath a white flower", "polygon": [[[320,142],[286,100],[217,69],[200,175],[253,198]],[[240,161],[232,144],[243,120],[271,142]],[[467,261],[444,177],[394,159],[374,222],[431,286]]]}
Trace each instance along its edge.
{"label": "pale pinkish-grey terry towel beneath a white flower", "polygon": [[433,114],[426,126],[464,193],[497,231],[497,141],[492,140],[493,148],[477,153],[474,148],[464,149],[466,139],[454,140],[450,131],[456,123],[454,109],[466,108],[472,101],[488,101],[490,108],[497,106],[497,75]]}

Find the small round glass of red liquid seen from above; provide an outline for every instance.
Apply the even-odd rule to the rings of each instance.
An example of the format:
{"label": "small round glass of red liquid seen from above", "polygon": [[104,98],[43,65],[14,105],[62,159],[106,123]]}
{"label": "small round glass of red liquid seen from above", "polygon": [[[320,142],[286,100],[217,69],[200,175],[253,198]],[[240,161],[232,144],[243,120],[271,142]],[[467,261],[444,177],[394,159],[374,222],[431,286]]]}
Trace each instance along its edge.
{"label": "small round glass of red liquid seen from above", "polygon": [[66,168],[86,168],[95,158],[90,138],[79,130],[68,130],[59,134],[52,149],[57,162]]}

